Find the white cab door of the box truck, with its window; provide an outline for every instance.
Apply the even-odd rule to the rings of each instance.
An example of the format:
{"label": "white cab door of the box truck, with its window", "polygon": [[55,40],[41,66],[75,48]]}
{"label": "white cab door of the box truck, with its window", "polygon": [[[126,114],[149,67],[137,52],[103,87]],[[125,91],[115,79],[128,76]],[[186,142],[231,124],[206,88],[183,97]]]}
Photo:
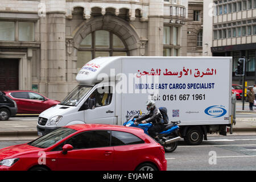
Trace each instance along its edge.
{"label": "white cab door of the box truck, with its window", "polygon": [[116,124],[113,86],[96,88],[84,103],[85,123]]}

